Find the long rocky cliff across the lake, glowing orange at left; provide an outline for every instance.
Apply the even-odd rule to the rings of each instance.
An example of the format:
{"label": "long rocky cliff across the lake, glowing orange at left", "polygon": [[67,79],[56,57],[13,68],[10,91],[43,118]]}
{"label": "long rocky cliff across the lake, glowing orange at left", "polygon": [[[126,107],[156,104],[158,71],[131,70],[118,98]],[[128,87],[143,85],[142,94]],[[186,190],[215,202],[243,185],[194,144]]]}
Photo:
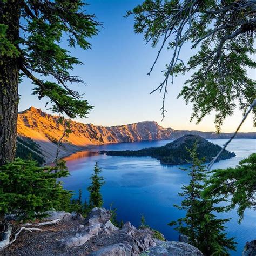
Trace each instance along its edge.
{"label": "long rocky cliff across the lake, glowing orange at left", "polygon": [[[47,161],[55,158],[57,142],[62,136],[65,126],[58,122],[59,116],[46,114],[41,109],[30,107],[18,114],[18,135],[35,140],[42,149]],[[64,138],[59,156],[64,156],[90,145],[104,143],[136,142],[140,140],[176,139],[184,134],[198,134],[204,138],[228,138],[230,134],[217,135],[214,132],[173,130],[163,128],[157,122],[147,121],[119,126],[97,126],[72,121],[72,133]],[[256,138],[256,133],[240,133],[239,137]]]}

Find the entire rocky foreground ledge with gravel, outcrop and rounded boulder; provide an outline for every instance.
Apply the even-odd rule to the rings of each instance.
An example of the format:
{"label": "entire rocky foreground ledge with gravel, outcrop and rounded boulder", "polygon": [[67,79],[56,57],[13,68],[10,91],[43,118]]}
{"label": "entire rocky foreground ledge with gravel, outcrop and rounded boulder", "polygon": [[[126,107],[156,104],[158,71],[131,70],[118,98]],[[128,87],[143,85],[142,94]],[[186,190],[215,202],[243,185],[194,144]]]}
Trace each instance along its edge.
{"label": "entire rocky foreground ledge with gravel, outcrop and rounded boulder", "polygon": [[[164,242],[149,228],[138,229],[127,222],[117,228],[110,211],[93,208],[88,217],[65,212],[49,212],[44,221],[55,225],[41,226],[42,231],[19,234],[1,255],[203,255],[184,242]],[[38,227],[38,224],[29,224]]]}

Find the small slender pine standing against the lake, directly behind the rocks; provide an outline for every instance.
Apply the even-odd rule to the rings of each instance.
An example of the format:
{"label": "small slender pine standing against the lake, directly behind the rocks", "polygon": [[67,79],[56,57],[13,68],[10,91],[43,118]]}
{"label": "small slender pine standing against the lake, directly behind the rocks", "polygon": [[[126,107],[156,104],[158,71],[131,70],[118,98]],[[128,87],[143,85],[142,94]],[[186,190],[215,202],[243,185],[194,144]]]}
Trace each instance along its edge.
{"label": "small slender pine standing against the lake, directly behind the rocks", "polygon": [[102,194],[100,194],[100,188],[104,184],[104,178],[103,176],[99,176],[99,174],[102,172],[102,170],[99,168],[98,163],[96,162],[94,173],[91,176],[91,185],[88,187],[88,191],[90,193],[90,199],[89,199],[89,207],[102,207],[103,205],[103,199]]}

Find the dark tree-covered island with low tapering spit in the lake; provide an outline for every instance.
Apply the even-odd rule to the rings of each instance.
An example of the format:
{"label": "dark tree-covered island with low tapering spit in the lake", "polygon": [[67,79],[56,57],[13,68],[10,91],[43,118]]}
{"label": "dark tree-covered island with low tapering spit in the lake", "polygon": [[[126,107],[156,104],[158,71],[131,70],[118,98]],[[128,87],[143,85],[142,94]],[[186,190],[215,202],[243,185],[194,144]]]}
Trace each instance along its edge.
{"label": "dark tree-covered island with low tapering spit in the lake", "polygon": [[[205,157],[207,162],[211,161],[221,150],[220,146],[208,142],[208,140],[198,135],[184,135],[183,137],[174,140],[174,142],[168,143],[162,147],[150,147],[137,151],[100,151],[99,153],[105,153],[109,156],[150,156],[160,160],[162,164],[179,165],[192,160],[187,148],[191,149],[195,142],[197,143],[198,157]],[[235,157],[233,152],[224,150],[217,161],[232,157]]]}

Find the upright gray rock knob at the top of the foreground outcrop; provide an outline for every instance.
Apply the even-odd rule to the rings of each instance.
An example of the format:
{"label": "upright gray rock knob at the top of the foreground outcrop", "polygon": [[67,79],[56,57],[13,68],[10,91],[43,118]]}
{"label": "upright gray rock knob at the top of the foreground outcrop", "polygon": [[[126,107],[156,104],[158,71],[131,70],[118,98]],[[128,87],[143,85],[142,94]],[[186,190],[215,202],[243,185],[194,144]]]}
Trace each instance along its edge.
{"label": "upright gray rock knob at the top of the foreground outcrop", "polygon": [[104,208],[93,208],[87,218],[85,219],[85,225],[101,224],[104,227],[105,223],[111,218],[111,212]]}

